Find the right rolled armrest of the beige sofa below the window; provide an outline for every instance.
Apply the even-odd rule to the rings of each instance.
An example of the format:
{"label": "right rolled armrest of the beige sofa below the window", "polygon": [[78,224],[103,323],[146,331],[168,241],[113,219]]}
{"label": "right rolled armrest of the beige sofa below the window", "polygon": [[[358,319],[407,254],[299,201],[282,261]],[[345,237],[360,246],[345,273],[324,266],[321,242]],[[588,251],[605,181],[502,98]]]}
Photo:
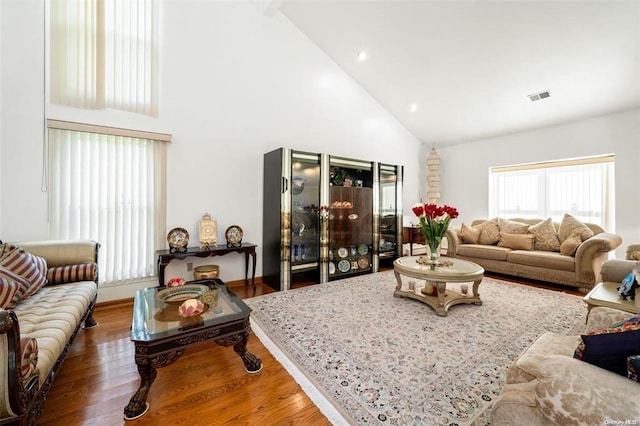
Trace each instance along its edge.
{"label": "right rolled armrest of the beige sofa below the window", "polygon": [[600,267],[610,251],[622,244],[617,234],[601,232],[584,241],[576,251],[576,277],[584,283],[600,281]]}

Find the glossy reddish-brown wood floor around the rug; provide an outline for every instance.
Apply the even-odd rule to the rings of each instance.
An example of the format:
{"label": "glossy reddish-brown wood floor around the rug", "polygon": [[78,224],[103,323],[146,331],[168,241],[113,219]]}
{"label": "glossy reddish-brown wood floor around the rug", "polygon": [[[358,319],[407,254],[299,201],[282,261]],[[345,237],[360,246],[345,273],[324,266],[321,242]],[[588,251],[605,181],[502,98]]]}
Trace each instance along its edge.
{"label": "glossy reddish-brown wood floor around the rug", "polygon": [[[273,292],[256,284],[255,293],[241,282],[229,286],[242,298]],[[158,369],[147,414],[124,421],[123,409],[139,386],[129,339],[131,317],[132,302],[96,308],[100,324],[78,333],[48,393],[39,425],[330,424],[253,334],[247,348],[262,360],[262,371],[246,373],[232,348],[212,342],[191,346],[179,360]]]}

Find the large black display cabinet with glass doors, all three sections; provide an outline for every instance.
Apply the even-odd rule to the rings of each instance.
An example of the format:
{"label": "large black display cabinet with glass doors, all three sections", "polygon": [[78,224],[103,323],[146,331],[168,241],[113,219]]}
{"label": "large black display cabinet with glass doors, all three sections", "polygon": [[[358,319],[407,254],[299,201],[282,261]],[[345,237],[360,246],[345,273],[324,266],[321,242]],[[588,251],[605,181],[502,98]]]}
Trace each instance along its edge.
{"label": "large black display cabinet with glass doors, all three sections", "polygon": [[276,290],[378,271],[400,253],[402,166],[264,155],[262,281]]}

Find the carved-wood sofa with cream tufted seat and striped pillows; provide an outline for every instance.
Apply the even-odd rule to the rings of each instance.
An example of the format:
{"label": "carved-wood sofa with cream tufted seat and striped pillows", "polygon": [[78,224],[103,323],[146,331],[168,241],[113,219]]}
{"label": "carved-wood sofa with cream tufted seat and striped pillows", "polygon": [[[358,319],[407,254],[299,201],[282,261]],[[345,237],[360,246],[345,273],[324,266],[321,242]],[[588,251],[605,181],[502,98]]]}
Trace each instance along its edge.
{"label": "carved-wood sofa with cream tufted seat and striped pillows", "polygon": [[[98,248],[93,241],[0,244],[0,423],[36,422],[76,334],[97,325]],[[27,282],[40,284],[25,298]]]}

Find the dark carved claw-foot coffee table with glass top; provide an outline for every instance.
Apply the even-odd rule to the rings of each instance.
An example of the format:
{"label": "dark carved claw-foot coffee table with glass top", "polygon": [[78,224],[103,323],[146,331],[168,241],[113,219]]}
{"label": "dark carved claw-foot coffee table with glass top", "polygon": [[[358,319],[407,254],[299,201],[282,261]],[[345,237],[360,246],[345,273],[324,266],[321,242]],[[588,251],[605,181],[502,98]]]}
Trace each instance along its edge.
{"label": "dark carved claw-foot coffee table with glass top", "polygon": [[[210,301],[211,305],[207,305],[202,314],[189,318],[178,313],[182,303],[179,301],[181,296],[174,291],[178,287],[152,287],[136,292],[131,340],[135,343],[140,387],[124,409],[125,420],[137,419],[147,412],[147,394],[156,378],[156,368],[176,361],[189,345],[213,340],[221,346],[233,346],[248,373],[262,369],[262,361],[247,351],[251,308],[220,279],[190,281],[183,288],[188,293],[187,289],[196,287],[200,291],[206,290],[200,297]],[[174,296],[163,298],[168,294]],[[198,294],[195,297],[199,297]]]}

